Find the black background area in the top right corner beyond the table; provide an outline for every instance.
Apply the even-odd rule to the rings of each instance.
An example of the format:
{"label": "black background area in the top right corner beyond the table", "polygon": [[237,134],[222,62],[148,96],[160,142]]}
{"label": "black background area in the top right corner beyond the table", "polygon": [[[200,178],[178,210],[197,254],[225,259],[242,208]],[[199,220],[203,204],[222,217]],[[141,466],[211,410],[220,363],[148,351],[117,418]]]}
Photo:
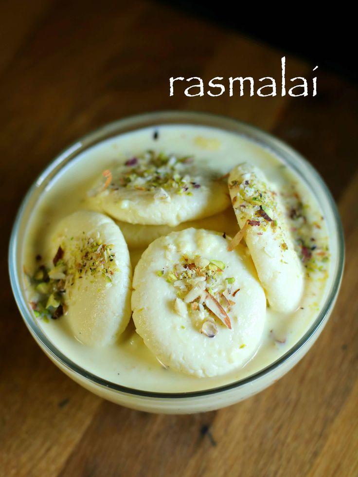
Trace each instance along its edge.
{"label": "black background area in the top right corner beyond the table", "polygon": [[343,2],[331,6],[322,4],[321,7],[315,6],[313,2],[286,4],[276,7],[276,12],[270,4],[256,4],[249,9],[241,2],[231,1],[161,0],[160,3],[169,4],[189,15],[206,18],[286,54],[309,60],[320,68],[358,81],[355,60],[357,20]]}

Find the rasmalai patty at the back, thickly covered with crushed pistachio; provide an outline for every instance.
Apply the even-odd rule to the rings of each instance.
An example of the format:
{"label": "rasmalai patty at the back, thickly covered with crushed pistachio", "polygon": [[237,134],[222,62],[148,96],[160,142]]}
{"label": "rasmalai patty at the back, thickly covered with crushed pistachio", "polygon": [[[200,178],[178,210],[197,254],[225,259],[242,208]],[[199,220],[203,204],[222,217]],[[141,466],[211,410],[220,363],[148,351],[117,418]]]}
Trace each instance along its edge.
{"label": "rasmalai patty at the back, thickly covered with crushed pistachio", "polygon": [[104,174],[106,187],[97,200],[107,214],[124,222],[175,226],[230,205],[220,174],[197,167],[192,158],[148,151]]}

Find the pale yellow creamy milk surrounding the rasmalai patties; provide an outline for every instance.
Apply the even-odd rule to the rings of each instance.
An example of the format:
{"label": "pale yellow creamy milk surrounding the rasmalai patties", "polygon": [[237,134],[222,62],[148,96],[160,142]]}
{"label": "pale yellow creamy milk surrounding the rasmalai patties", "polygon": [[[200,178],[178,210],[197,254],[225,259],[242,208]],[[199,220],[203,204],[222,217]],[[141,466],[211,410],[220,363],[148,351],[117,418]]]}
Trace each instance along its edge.
{"label": "pale yellow creamy milk surrounding the rasmalai patties", "polygon": [[[315,243],[327,243],[327,232],[316,200],[282,160],[268,149],[235,133],[199,126],[162,126],[145,128],[109,139],[91,147],[72,160],[50,183],[38,202],[25,240],[24,265],[32,273],[37,254],[45,257],[47,243],[58,220],[78,209],[89,208],[87,191],[97,176],[117,160],[135,156],[145,149],[155,149],[177,155],[194,154],[196,161],[226,174],[240,162],[250,162],[262,168],[268,181],[282,191],[294,184],[304,197],[305,215],[312,226]],[[93,208],[93,206],[92,206]],[[228,213],[228,212],[224,212]],[[319,224],[319,226],[317,226]],[[320,228],[319,228],[320,227]],[[224,232],[219,230],[219,232]],[[130,250],[133,267],[141,250]],[[321,267],[322,268],[322,267]],[[325,264],[325,268],[329,268]],[[71,334],[66,315],[45,322],[37,319],[54,346],[74,363],[91,373],[116,384],[136,389],[163,392],[195,391],[232,383],[267,367],[290,349],[308,330],[317,317],[325,298],[327,272],[316,271],[306,279],[301,307],[290,315],[267,309],[262,344],[245,367],[215,378],[196,378],[165,369],[144,346],[130,321],[118,343],[106,348],[92,348],[81,344]]]}

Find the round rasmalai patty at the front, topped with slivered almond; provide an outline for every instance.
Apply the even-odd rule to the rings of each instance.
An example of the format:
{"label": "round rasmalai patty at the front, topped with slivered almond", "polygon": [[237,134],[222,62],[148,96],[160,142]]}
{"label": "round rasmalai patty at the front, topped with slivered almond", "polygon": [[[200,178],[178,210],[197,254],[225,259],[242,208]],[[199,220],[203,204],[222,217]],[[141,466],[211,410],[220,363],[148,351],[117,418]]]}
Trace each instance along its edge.
{"label": "round rasmalai patty at the front, topped with slivered almond", "polygon": [[133,320],[165,366],[216,376],[242,367],[258,349],[266,297],[247,249],[228,252],[228,244],[190,228],[158,238],[139,260]]}

